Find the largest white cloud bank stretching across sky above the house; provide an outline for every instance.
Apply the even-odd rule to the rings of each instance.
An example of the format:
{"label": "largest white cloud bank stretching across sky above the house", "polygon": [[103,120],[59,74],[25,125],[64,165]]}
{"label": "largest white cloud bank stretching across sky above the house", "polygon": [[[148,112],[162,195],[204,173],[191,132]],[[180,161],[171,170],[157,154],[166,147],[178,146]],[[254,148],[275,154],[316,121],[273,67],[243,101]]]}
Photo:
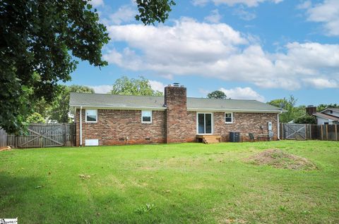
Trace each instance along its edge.
{"label": "largest white cloud bank stretching across sky above the house", "polygon": [[304,80],[319,77],[339,82],[339,44],[293,42],[282,46],[284,53],[272,54],[263,51],[251,35],[242,35],[225,23],[189,18],[173,26],[112,25],[107,29],[112,41],[126,42],[127,47],[111,49],[105,60],[129,70],[170,77],[200,75],[265,88],[314,87]]}

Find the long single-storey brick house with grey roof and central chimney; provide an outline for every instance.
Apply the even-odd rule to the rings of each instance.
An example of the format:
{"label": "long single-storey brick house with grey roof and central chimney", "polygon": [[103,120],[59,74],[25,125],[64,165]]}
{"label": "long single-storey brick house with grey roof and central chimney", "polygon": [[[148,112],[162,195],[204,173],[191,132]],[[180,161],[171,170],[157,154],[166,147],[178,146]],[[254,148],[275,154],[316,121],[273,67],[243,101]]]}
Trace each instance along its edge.
{"label": "long single-storey brick house with grey roof and central chimney", "polygon": [[186,97],[165,87],[165,97],[71,93],[77,145],[196,142],[197,135],[229,141],[230,132],[279,135],[283,110],[255,100]]}

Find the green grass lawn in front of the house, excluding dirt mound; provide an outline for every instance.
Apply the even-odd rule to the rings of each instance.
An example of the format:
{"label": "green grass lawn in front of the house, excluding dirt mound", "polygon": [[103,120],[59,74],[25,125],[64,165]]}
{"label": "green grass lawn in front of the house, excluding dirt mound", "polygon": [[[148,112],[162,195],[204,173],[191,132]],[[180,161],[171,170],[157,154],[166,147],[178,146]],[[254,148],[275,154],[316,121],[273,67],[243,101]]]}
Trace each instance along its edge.
{"label": "green grass lawn in front of the house, excluding dirt mound", "polygon": [[[319,169],[243,162],[273,148]],[[19,223],[339,223],[339,142],[0,151],[0,218],[15,217]]]}

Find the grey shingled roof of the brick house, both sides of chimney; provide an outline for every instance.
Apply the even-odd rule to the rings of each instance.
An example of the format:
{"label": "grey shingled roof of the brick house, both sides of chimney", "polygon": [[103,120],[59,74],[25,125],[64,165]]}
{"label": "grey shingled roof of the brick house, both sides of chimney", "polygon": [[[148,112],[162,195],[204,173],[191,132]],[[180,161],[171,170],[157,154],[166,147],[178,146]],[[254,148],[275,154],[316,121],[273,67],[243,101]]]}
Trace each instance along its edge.
{"label": "grey shingled roof of the brick house, both sides of chimney", "polygon": [[[95,108],[150,108],[165,110],[164,97],[71,93],[69,105]],[[187,97],[188,111],[251,111],[280,113],[283,109],[256,100]]]}

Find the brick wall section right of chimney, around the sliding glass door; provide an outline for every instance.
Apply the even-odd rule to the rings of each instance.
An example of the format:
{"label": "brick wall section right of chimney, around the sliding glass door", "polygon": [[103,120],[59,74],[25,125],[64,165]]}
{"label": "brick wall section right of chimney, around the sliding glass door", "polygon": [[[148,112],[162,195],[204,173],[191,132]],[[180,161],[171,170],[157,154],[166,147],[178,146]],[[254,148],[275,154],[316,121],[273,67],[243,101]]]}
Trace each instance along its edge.
{"label": "brick wall section right of chimney, around the sliding glass door", "polygon": [[[233,123],[225,124],[225,113],[213,113],[213,135],[221,135],[222,142],[229,142],[230,132],[240,132],[244,141],[249,140],[249,132],[254,135],[268,134],[268,121],[272,122],[273,139],[278,136],[276,113],[233,113]],[[263,129],[261,129],[263,126]],[[196,141],[196,112],[187,112],[187,142]]]}

